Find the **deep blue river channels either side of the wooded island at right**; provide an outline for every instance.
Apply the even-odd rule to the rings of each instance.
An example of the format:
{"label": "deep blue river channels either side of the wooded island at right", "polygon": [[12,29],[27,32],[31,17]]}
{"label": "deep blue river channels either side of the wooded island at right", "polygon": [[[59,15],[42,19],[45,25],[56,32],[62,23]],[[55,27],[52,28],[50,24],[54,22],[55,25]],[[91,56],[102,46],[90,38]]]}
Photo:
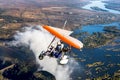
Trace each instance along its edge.
{"label": "deep blue river channels either side of the wooded island at right", "polygon": [[[86,25],[82,26],[81,28],[75,29],[74,33],[79,34],[80,32],[88,32],[92,34],[93,32],[103,32],[105,26],[116,26],[118,29],[120,29],[120,22]],[[120,43],[120,40],[117,41],[118,43]],[[120,69],[120,66],[118,66],[118,64],[120,64],[120,51],[114,51],[115,49],[117,50],[119,48],[120,45],[106,45],[99,48],[83,48],[82,51],[73,49],[73,52],[78,55],[75,58],[77,58],[77,62],[80,65],[80,69],[76,69],[76,71],[74,72],[77,74],[73,75],[77,77],[81,75],[82,80],[85,80],[85,78],[88,76],[89,78],[103,76],[105,73],[113,76],[114,72]],[[103,65],[91,68],[86,67],[86,65],[93,64],[95,62],[102,62]],[[97,69],[100,69],[100,71],[97,71]],[[88,76],[86,75],[87,73],[85,73],[86,71],[87,73],[89,73]],[[76,77],[74,77],[74,79],[77,80]]]}

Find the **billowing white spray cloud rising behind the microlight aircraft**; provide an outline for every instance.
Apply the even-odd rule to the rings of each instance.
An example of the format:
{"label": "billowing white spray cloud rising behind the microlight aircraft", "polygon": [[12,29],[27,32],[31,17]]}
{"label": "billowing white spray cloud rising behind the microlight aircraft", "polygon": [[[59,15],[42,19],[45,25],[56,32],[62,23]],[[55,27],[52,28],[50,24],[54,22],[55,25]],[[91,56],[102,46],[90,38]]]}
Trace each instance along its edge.
{"label": "billowing white spray cloud rising behind the microlight aircraft", "polygon": [[[70,75],[74,69],[73,65],[77,65],[74,60],[70,60],[67,65],[59,65],[57,59],[44,57],[43,60],[39,60],[38,56],[43,50],[47,50],[47,46],[53,39],[53,35],[44,30],[41,26],[25,27],[22,31],[18,31],[14,36],[15,40],[12,41],[14,46],[29,46],[33,51],[36,62],[42,67],[42,70],[46,70],[52,73],[56,80],[70,80]],[[38,69],[38,70],[41,70]]]}

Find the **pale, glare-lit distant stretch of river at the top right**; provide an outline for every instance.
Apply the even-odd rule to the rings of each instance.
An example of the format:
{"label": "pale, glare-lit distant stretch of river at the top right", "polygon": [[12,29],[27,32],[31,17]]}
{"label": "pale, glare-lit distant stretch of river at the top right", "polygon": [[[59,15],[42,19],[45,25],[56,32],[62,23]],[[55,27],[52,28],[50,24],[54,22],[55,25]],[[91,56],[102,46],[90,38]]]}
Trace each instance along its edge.
{"label": "pale, glare-lit distant stretch of river at the top right", "polygon": [[[114,14],[120,14],[120,11],[108,9],[108,8],[106,8],[106,5],[109,5],[109,4],[104,3],[103,0],[99,0],[99,1],[95,0],[95,1],[90,1],[89,4],[83,6],[82,8],[87,9],[87,10],[95,10],[95,8],[97,8],[101,11],[106,11],[106,12],[110,12],[110,13],[114,13]],[[95,11],[98,11],[97,9]]]}

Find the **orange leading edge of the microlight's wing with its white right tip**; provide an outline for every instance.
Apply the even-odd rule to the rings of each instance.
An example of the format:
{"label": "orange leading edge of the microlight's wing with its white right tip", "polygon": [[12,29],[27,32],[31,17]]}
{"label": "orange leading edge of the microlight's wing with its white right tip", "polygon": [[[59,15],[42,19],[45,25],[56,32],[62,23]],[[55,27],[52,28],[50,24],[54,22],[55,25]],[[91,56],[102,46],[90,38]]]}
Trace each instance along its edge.
{"label": "orange leading edge of the microlight's wing with its white right tip", "polygon": [[[79,40],[69,36],[69,35],[64,35],[62,30],[61,31],[57,31],[56,28],[50,27],[50,26],[43,26],[44,29],[46,29],[47,31],[49,31],[51,34],[55,35],[57,38],[59,38],[61,41],[69,44],[70,46],[77,48],[77,49],[81,49],[83,47],[82,42],[80,42]],[[64,31],[64,30],[63,30]]]}

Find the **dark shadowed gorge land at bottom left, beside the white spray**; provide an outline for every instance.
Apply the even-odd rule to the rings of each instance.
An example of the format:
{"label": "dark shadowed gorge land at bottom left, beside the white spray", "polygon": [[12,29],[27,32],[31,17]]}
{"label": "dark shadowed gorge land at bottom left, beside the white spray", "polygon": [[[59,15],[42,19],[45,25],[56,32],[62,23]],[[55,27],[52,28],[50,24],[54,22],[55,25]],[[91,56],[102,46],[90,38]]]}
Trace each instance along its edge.
{"label": "dark shadowed gorge land at bottom left, beside the white spray", "polygon": [[47,71],[37,71],[38,65],[29,51],[0,47],[0,52],[0,80],[56,80]]}

